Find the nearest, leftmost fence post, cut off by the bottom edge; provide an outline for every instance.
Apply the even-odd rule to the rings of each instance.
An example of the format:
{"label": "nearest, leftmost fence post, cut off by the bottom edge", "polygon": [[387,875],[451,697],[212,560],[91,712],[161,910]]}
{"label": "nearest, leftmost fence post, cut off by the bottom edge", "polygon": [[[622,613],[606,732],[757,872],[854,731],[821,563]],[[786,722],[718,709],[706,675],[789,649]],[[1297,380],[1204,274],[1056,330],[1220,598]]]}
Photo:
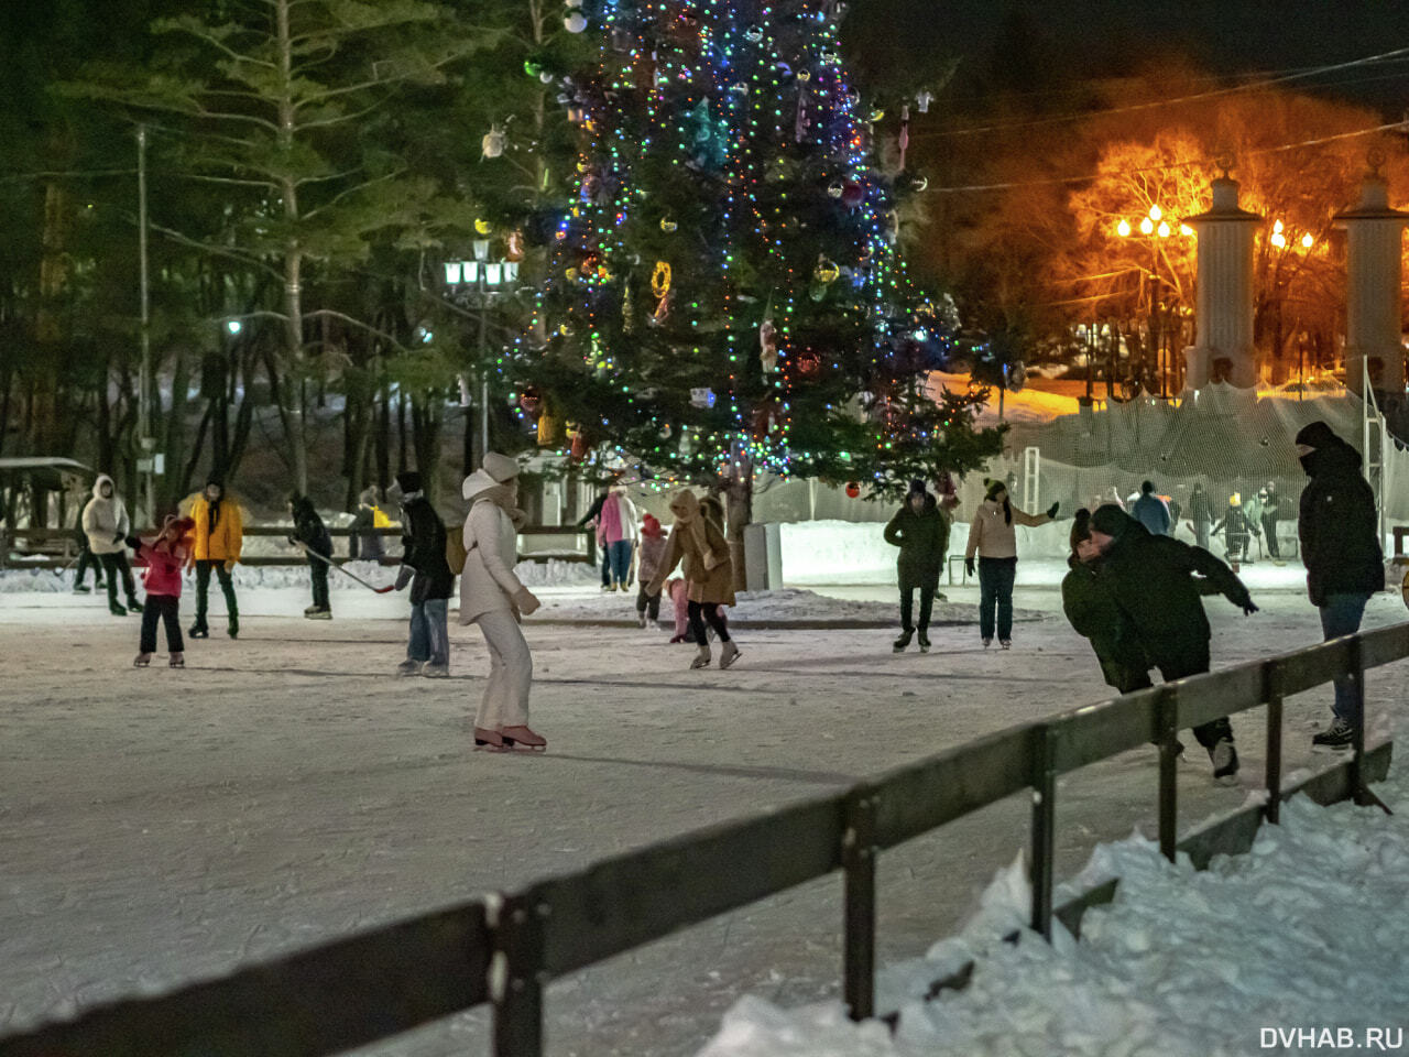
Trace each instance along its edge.
{"label": "nearest, leftmost fence post, cut off by the bottom edge", "polygon": [[495,953],[489,999],[495,1057],[542,1057],[542,930],[548,905],[528,895],[485,899]]}

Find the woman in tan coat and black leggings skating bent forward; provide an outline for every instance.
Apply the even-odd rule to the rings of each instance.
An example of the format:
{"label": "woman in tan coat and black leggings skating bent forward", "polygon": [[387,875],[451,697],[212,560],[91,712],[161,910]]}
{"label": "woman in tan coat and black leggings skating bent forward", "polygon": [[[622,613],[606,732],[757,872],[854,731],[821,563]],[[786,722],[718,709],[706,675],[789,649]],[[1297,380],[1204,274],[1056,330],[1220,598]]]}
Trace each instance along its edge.
{"label": "woman in tan coat and black leggings skating bent forward", "polygon": [[728,668],[738,660],[738,647],[728,637],[728,626],[716,609],[734,605],[734,565],[728,558],[728,544],[719,526],[700,513],[700,502],[693,492],[676,492],[671,500],[671,513],[675,514],[675,524],[665,543],[665,558],[645,593],[657,593],[665,578],[683,561],[690,630],[699,643],[699,654],[690,661],[690,668],[704,668],[712,660],[704,622],[709,622],[723,643],[719,667]]}

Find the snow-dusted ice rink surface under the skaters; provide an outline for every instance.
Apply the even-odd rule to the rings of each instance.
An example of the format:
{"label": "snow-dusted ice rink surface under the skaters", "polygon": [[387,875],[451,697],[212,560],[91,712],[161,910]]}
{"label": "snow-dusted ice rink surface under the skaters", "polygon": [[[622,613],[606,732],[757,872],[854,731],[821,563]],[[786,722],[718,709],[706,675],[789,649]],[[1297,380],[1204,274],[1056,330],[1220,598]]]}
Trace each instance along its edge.
{"label": "snow-dusted ice rink surface under the skaters", "polygon": [[[693,648],[661,631],[530,622],[531,720],[550,751],[485,755],[469,748],[488,667],[476,629],[451,626],[452,678],[396,679],[404,596],[341,591],[335,619],[310,622],[306,589],[241,583],[241,638],[224,637],[213,592],[214,636],[187,644],[185,671],[161,653],[131,668],[137,620],[100,599],[0,596],[0,1033],[514,889],[1106,696],[1060,619],[1022,624],[1010,653],[944,627],[923,657],[893,655],[890,629],[740,629],[727,672],[688,671]],[[542,595],[606,605],[593,583]],[[634,612],[634,596],[604,598]],[[1209,603],[1217,664],[1319,641],[1305,596],[1265,600],[1250,619]],[[1050,610],[1057,592],[1027,588],[1019,605]],[[182,607],[189,620],[189,596]],[[1367,626],[1403,616],[1379,596]],[[1402,709],[1403,689],[1402,667],[1367,678],[1377,713]],[[1327,699],[1288,702],[1289,771],[1310,765]],[[1262,717],[1234,727],[1243,785],[1213,785],[1186,754],[1186,827],[1261,779]],[[1153,750],[1058,788],[1061,877],[1098,841],[1154,830]],[[923,957],[972,916],[1029,813],[1014,796],[882,855],[881,964]],[[823,878],[554,982],[548,1054],[685,1057],[743,995],[834,999],[840,892]],[[482,1053],[488,1023],[480,1009],[359,1053]]]}

